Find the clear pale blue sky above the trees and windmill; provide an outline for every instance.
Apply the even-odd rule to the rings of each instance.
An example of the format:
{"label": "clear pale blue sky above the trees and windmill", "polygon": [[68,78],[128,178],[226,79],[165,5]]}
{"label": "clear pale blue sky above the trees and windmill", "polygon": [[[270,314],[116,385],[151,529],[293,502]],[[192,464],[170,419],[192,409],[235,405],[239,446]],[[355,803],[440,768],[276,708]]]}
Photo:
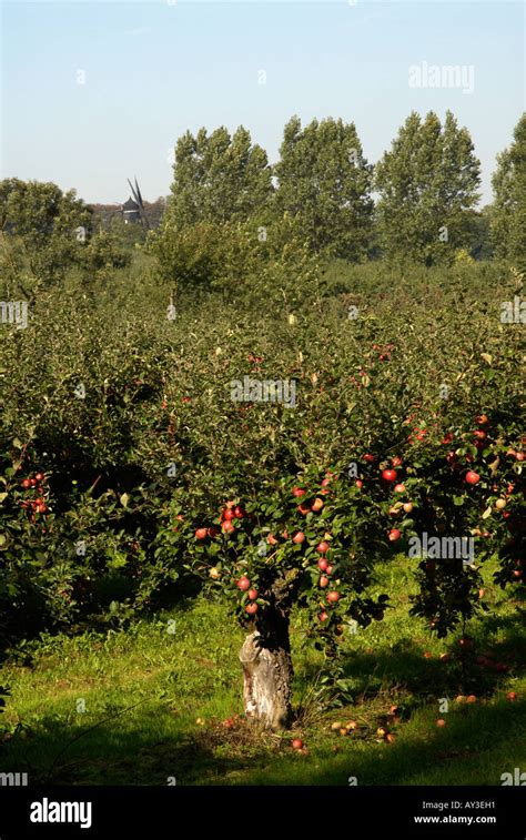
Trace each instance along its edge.
{"label": "clear pale blue sky above the trees and windmill", "polygon": [[[341,117],[371,162],[412,110],[449,108],[490,200],[495,155],[525,110],[523,2],[1,2],[2,178],[121,202],[166,195],[186,129],[244,124],[271,161],[283,125]],[[409,67],[474,68],[474,90],[412,88]],[[266,84],[259,84],[259,71]],[[78,83],[78,71],[85,83]],[[81,77],[79,77],[81,78]]]}

